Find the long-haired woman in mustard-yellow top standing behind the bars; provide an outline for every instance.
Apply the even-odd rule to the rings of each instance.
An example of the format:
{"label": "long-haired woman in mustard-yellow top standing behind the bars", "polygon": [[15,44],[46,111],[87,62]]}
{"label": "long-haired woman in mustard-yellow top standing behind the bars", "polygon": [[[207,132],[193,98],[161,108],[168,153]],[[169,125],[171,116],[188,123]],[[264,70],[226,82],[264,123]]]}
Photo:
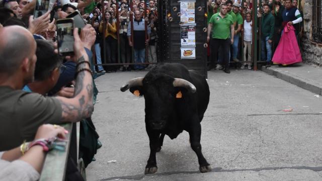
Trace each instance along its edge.
{"label": "long-haired woman in mustard-yellow top standing behind the bars", "polygon": [[[117,36],[116,36],[116,24],[113,21],[112,12],[105,12],[105,21],[101,21],[99,32],[103,33],[103,24],[106,23],[105,29],[105,52],[107,63],[116,63],[116,52],[117,52]],[[116,66],[108,66],[107,72],[115,72]]]}

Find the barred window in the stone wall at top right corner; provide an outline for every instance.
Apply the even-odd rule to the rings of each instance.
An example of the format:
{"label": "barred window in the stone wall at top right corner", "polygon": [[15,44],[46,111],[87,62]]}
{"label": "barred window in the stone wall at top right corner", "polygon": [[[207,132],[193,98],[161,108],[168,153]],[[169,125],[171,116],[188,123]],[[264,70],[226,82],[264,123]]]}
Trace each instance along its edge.
{"label": "barred window in the stone wall at top right corner", "polygon": [[322,43],[322,0],[313,0],[312,3],[312,40]]}

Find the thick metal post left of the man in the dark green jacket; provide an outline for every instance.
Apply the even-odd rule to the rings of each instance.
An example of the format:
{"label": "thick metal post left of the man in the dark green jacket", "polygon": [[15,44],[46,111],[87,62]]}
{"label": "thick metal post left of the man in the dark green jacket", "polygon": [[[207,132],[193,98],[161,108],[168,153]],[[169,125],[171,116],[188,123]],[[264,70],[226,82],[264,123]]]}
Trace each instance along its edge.
{"label": "thick metal post left of the man in the dark green jacket", "polygon": [[257,70],[257,1],[253,1],[253,59],[254,59],[254,70]]}

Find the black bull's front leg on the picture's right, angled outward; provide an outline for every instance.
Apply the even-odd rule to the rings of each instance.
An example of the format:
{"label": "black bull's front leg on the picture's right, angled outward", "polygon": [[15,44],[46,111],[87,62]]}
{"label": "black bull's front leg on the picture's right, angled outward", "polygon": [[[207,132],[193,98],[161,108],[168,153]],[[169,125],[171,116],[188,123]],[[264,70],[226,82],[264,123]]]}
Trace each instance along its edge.
{"label": "black bull's front leg on the picture's right, angled outward", "polygon": [[203,157],[201,152],[200,136],[201,136],[201,125],[198,122],[194,122],[191,129],[188,131],[190,136],[191,148],[196,152],[199,162],[200,172],[208,172],[211,170],[210,164],[207,162],[205,157]]}

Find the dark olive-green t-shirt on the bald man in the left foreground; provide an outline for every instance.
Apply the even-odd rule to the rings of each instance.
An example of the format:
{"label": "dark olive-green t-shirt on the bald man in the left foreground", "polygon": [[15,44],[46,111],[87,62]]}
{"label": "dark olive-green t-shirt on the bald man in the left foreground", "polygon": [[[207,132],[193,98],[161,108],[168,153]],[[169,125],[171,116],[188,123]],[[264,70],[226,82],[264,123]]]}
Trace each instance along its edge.
{"label": "dark olive-green t-shirt on the bald man in the left foreground", "polygon": [[0,151],[34,139],[42,124],[61,123],[61,103],[56,98],[0,86]]}

